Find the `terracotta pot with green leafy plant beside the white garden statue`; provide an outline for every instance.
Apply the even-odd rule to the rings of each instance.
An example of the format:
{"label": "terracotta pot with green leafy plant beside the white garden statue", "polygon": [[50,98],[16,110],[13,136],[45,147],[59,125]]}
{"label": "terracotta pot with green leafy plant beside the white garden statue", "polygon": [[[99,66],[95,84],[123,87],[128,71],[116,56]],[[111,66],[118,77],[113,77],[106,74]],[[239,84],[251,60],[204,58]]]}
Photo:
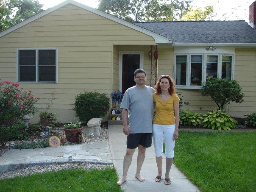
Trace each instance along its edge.
{"label": "terracotta pot with green leafy plant beside the white garden statue", "polygon": [[81,132],[83,127],[81,127],[81,122],[76,123],[68,123],[64,125],[63,130],[65,131],[65,135],[67,137],[67,140],[72,143],[77,142],[77,134]]}

